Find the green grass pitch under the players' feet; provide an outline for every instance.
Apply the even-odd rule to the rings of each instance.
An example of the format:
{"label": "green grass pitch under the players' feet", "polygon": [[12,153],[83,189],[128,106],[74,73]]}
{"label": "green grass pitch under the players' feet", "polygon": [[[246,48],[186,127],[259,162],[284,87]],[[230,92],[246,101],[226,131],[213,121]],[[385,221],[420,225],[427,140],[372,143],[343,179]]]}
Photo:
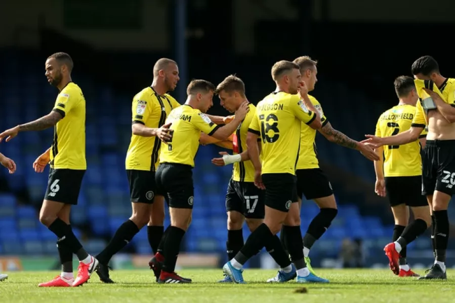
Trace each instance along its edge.
{"label": "green grass pitch under the players' feet", "polygon": [[[423,270],[417,271],[423,274]],[[9,279],[0,282],[0,302],[455,302],[455,271],[447,272],[448,281],[418,281],[399,278],[390,270],[317,269],[329,284],[297,284],[295,281],[268,284],[272,270],[246,269],[247,284],[219,284],[221,270],[178,272],[192,278],[192,284],[157,284],[153,272],[146,270],[113,271],[116,284],[104,284],[94,273],[89,282],[76,288],[40,288],[38,283],[58,272],[7,272]],[[306,293],[298,292],[303,287]]]}

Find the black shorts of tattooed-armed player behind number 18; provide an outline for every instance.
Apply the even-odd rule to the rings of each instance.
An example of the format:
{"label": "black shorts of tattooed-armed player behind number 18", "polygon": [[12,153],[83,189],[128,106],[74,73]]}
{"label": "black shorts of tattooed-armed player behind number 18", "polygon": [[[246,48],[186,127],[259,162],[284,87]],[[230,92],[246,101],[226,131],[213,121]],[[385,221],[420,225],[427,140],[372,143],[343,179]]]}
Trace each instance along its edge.
{"label": "black shorts of tattooed-armed player behind number 18", "polygon": [[307,200],[328,197],[334,194],[332,184],[320,168],[299,169],[297,175],[297,195]]}

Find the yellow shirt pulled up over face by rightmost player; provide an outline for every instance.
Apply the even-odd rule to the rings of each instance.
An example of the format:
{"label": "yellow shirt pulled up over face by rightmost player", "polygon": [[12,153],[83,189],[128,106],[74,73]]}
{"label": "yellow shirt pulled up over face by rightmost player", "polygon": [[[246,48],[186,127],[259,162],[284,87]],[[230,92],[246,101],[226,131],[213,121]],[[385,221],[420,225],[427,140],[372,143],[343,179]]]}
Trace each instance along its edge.
{"label": "yellow shirt pulled up over face by rightmost player", "polygon": [[428,124],[428,111],[423,108],[422,100],[429,97],[429,95],[423,90],[424,87],[433,90],[439,94],[445,103],[455,107],[455,79],[446,78],[441,87],[437,87],[431,80],[416,79],[414,83],[416,84],[416,90],[419,95],[419,102],[417,102],[416,115],[412,121],[413,127],[425,127]]}

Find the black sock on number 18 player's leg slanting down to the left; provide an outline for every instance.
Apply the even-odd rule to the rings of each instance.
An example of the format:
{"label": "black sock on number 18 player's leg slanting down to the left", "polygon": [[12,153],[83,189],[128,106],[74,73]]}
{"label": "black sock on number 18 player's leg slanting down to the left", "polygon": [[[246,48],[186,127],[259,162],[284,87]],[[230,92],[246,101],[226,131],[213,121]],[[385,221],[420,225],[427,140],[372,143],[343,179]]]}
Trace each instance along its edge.
{"label": "black sock on number 18 player's leg slanting down to the left", "polygon": [[246,239],[245,245],[240,249],[234,259],[241,265],[245,264],[248,259],[253,257],[265,246],[265,243],[273,241],[274,235],[269,227],[262,223]]}

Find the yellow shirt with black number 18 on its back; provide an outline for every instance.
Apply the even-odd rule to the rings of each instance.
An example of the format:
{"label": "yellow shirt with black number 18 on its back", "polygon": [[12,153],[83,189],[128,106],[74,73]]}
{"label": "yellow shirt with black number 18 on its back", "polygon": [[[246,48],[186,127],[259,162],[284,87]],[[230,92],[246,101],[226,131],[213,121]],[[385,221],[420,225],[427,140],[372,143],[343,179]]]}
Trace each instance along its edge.
{"label": "yellow shirt with black number 18 on its back", "polygon": [[310,124],[316,115],[298,95],[273,92],[261,100],[248,131],[262,139],[262,173],[295,175],[302,122]]}

